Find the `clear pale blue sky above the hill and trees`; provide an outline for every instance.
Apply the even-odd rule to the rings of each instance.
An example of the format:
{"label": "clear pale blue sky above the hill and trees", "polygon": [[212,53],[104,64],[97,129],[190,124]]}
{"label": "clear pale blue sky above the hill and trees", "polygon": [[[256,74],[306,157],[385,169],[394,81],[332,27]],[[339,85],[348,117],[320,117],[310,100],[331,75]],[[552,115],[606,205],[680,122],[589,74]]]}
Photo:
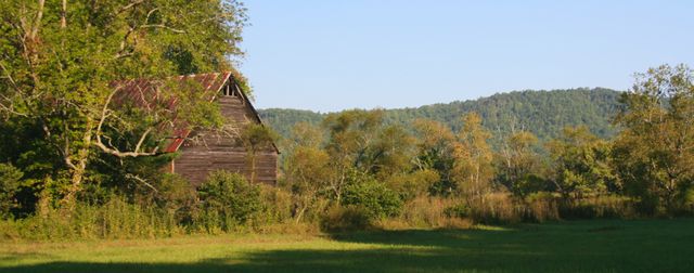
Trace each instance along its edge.
{"label": "clear pale blue sky above the hill and trees", "polygon": [[694,66],[694,1],[246,0],[258,108],[417,107],[514,90],[627,90]]}

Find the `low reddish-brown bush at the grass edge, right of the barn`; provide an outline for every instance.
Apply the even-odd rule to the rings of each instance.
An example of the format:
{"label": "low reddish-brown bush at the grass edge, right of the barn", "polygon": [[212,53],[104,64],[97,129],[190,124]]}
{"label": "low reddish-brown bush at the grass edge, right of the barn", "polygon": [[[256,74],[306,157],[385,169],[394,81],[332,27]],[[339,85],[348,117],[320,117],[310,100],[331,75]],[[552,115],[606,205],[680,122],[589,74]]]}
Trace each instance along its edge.
{"label": "low reddish-brown bush at the grass edge, right of the barn", "polygon": [[325,232],[363,231],[372,224],[371,212],[360,206],[333,206],[321,218],[321,230]]}

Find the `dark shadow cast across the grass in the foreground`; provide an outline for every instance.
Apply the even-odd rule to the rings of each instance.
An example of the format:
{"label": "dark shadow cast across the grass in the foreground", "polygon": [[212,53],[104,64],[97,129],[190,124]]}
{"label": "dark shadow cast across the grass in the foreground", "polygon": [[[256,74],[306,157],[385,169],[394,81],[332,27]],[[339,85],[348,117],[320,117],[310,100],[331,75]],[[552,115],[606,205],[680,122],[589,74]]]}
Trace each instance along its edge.
{"label": "dark shadow cast across the grass in the foreground", "polygon": [[[694,261],[690,259],[694,255],[691,248],[694,240],[690,240],[693,237],[681,236],[689,233],[689,229],[676,236],[659,236],[651,234],[650,227],[566,226],[346,233],[330,237],[348,245],[324,249],[254,250],[243,257],[215,257],[196,263],[49,262],[0,268],[0,271],[694,272]],[[680,227],[687,226],[691,227]],[[595,233],[596,229],[601,232]]]}

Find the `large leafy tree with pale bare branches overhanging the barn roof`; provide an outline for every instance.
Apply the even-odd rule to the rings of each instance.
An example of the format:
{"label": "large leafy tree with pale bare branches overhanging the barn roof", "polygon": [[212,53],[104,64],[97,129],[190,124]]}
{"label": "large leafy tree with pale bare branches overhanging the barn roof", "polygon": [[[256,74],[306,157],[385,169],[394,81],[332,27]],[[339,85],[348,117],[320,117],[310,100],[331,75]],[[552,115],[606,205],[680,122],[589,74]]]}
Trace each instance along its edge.
{"label": "large leafy tree with pale bare branches overhanging the barn roof", "polygon": [[[164,125],[220,125],[194,84],[162,88],[150,107],[114,101],[125,79],[232,69],[230,56],[242,53],[241,3],[0,0],[0,115],[36,147],[5,159],[46,162],[28,174],[57,181],[64,202],[74,200],[103,155],[157,154]],[[164,102],[174,98],[190,115],[170,112]]]}

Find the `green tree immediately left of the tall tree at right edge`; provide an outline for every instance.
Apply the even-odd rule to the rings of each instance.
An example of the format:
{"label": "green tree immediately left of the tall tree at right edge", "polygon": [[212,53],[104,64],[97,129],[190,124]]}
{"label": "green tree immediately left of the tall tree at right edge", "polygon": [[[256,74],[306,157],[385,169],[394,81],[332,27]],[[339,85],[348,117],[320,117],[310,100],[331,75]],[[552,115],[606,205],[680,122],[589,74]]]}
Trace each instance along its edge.
{"label": "green tree immediately left of the tall tree at right edge", "polygon": [[611,166],[611,145],[587,127],[567,127],[560,140],[548,143],[553,162],[550,178],[565,200],[606,193],[618,186]]}

